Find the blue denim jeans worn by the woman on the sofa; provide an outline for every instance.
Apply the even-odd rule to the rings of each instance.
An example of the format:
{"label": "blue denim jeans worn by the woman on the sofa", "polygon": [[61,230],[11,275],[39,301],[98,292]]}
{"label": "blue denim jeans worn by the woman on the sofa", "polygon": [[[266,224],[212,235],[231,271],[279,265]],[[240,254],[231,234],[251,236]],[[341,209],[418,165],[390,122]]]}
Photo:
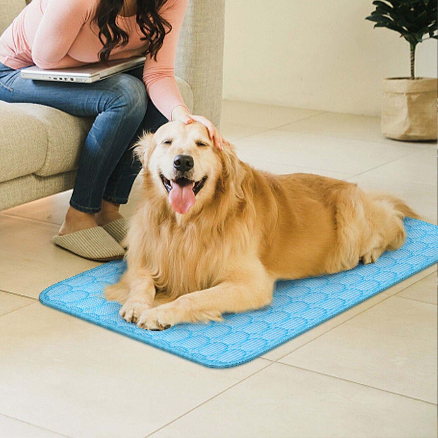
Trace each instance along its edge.
{"label": "blue denim jeans worn by the woman on the sofa", "polygon": [[81,117],[95,117],[79,162],[70,205],[97,213],[102,199],[125,204],[141,170],[131,145],[143,131],[167,122],[149,100],[143,68],[92,84],[32,81],[0,63],[0,100],[52,106]]}

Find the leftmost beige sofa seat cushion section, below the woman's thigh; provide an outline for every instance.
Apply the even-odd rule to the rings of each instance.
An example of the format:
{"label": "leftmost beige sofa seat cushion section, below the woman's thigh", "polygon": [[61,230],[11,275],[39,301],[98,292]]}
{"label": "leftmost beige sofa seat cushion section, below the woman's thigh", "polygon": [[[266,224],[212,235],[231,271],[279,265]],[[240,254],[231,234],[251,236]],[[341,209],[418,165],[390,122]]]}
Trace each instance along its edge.
{"label": "leftmost beige sofa seat cushion section, below the woman's thigh", "polygon": [[47,132],[19,104],[0,100],[0,181],[22,177],[41,168],[46,157]]}

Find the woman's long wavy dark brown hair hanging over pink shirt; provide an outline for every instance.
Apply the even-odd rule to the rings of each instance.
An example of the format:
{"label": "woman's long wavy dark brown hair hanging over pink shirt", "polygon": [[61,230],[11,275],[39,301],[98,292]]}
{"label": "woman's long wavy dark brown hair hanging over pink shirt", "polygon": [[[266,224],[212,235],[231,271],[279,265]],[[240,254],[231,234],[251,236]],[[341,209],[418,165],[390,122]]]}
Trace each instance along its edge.
{"label": "woman's long wavy dark brown hair hanging over pink shirt", "polygon": [[[159,15],[160,8],[167,0],[137,0],[137,24],[144,35],[141,40],[148,43],[144,55],[149,54],[155,61],[163,45],[164,36],[172,30],[172,25]],[[124,0],[100,0],[93,21],[99,27],[102,50],[99,59],[108,62],[109,54],[117,46],[126,46],[129,35],[117,26],[116,18]],[[167,30],[166,30],[167,28]]]}

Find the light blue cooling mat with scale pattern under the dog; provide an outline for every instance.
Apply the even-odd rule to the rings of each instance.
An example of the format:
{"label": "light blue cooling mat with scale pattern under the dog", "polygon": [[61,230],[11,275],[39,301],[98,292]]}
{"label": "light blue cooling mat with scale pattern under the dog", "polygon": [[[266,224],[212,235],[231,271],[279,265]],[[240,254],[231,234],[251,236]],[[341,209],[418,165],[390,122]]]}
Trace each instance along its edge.
{"label": "light blue cooling mat with scale pattern under the dog", "polygon": [[162,332],[140,329],[124,321],[120,304],[102,297],[116,283],[124,261],[112,261],[44,290],[43,304],[102,325],[144,343],[208,367],[232,367],[321,324],[438,260],[438,227],[405,219],[406,242],[384,253],[374,265],[359,263],[350,271],[276,283],[272,305],[223,322],[180,324]]}

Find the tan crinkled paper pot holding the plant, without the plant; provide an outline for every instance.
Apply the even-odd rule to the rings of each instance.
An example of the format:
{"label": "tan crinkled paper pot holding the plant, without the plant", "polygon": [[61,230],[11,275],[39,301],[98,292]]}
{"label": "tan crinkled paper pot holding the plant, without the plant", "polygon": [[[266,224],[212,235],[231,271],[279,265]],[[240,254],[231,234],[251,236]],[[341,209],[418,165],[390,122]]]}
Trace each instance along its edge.
{"label": "tan crinkled paper pot holding the plant, without the plant", "polygon": [[396,140],[437,139],[437,79],[383,80],[381,128]]}

